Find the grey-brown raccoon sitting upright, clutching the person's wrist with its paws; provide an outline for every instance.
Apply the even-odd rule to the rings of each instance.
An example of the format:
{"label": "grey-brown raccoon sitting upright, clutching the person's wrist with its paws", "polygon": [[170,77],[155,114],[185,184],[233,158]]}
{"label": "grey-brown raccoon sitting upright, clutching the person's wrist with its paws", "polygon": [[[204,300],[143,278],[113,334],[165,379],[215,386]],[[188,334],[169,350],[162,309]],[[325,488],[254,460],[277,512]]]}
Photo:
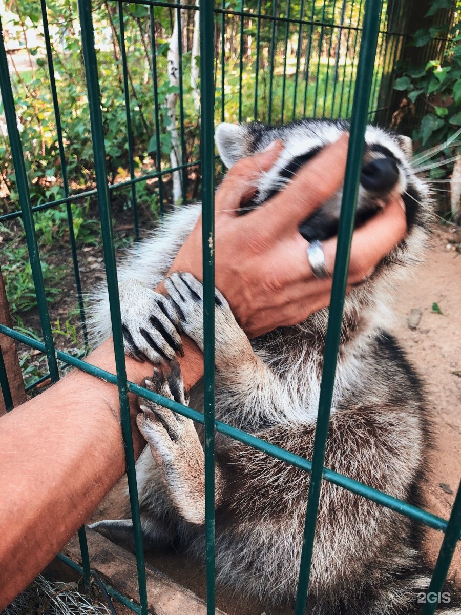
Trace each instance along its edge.
{"label": "grey-brown raccoon sitting upright, clutching the person's wrist with its paws", "polygon": [[[259,180],[251,203],[258,207],[347,130],[345,122],[309,119],[283,127],[221,124],[216,145],[231,167],[272,141],[283,141],[277,163]],[[408,138],[369,126],[365,141],[356,224],[401,194],[408,234],[345,299],[325,465],[422,506],[430,418],[422,382],[387,325],[394,281],[420,261],[427,247],[430,190],[412,170]],[[340,204],[341,192],[301,224],[302,236],[310,241],[336,234]],[[153,290],[199,215],[200,205],[175,211],[120,265],[127,354],[154,363],[174,360],[181,350],[181,329],[203,349],[202,285],[191,274],[175,273],[165,280],[168,296]],[[249,341],[226,298],[218,290],[215,297],[216,418],[312,458],[328,309]],[[93,335],[109,336],[109,323],[107,291],[100,288],[93,303]],[[189,403],[176,363],[166,375],[155,370],[145,385]],[[190,391],[191,406],[200,410],[202,397],[199,383]],[[138,424],[151,451],[144,451],[138,464],[144,545],[175,544],[203,557],[199,433],[189,419],[146,400],[140,404]],[[217,580],[275,605],[293,603],[310,475],[222,434],[216,434],[215,446]],[[93,527],[116,542],[132,544],[130,520]],[[323,482],[307,614],[416,614],[417,595],[429,581],[417,523]],[[450,590],[451,602],[439,608],[461,613]]]}

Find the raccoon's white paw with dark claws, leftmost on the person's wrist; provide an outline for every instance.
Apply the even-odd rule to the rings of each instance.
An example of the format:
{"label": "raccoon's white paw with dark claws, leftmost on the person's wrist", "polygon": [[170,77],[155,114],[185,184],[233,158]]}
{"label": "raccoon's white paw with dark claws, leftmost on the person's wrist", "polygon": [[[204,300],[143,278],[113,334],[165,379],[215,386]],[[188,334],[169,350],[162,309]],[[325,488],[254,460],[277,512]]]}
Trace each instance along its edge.
{"label": "raccoon's white paw with dark claws, leftmost on the person's wrist", "polygon": [[136,280],[120,284],[120,312],[125,353],[152,363],[184,356],[178,314],[170,301]]}

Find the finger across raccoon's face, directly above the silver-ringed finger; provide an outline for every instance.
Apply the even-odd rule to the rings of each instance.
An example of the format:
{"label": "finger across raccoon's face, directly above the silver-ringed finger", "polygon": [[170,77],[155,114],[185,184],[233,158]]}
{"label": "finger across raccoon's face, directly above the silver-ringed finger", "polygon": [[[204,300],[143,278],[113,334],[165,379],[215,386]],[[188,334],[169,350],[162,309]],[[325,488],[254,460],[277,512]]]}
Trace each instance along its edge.
{"label": "finger across raccoon's face, directly above the silver-ringed finger", "polygon": [[297,228],[336,194],[344,182],[348,145],[349,134],[345,133],[307,162],[286,188],[250,213],[254,228],[262,229],[270,240],[286,229]]}

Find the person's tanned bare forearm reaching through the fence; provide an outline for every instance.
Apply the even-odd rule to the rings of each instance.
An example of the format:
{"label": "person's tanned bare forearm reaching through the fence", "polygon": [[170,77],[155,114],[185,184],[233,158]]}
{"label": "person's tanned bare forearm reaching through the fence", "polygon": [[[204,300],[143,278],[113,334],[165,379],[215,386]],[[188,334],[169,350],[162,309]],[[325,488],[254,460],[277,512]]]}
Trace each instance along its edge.
{"label": "person's tanned bare forearm reaching through the fence", "polygon": [[[184,339],[187,387],[202,375],[202,355]],[[111,340],[88,362],[115,373]],[[140,383],[150,363],[127,358],[127,377]],[[138,457],[145,442],[134,420]],[[22,454],[18,454],[21,448]],[[73,370],[0,420],[0,610],[38,574],[125,472],[117,387]],[[26,548],[25,548],[26,546]]]}

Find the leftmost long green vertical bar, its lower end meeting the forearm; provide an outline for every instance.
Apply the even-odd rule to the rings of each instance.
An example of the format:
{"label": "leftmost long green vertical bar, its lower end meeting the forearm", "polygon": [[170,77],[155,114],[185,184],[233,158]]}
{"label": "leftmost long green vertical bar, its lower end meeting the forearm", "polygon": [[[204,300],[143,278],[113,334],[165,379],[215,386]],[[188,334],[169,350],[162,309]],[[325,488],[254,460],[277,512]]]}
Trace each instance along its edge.
{"label": "leftmost long green vertical bar, its lower end meeting the forearm", "polygon": [[19,202],[21,204],[22,220],[26,232],[27,249],[34,280],[35,295],[42,326],[43,341],[45,343],[48,367],[52,383],[59,379],[58,363],[56,360],[55,343],[51,330],[50,314],[48,311],[45,285],[42,276],[42,266],[40,263],[40,253],[35,234],[34,220],[31,210],[29,183],[22,151],[21,138],[17,125],[17,117],[14,106],[13,92],[11,89],[8,62],[6,59],[5,44],[3,40],[3,28],[0,17],[0,93],[3,101],[6,125],[11,146],[11,156],[13,159],[16,184],[18,188]]}

